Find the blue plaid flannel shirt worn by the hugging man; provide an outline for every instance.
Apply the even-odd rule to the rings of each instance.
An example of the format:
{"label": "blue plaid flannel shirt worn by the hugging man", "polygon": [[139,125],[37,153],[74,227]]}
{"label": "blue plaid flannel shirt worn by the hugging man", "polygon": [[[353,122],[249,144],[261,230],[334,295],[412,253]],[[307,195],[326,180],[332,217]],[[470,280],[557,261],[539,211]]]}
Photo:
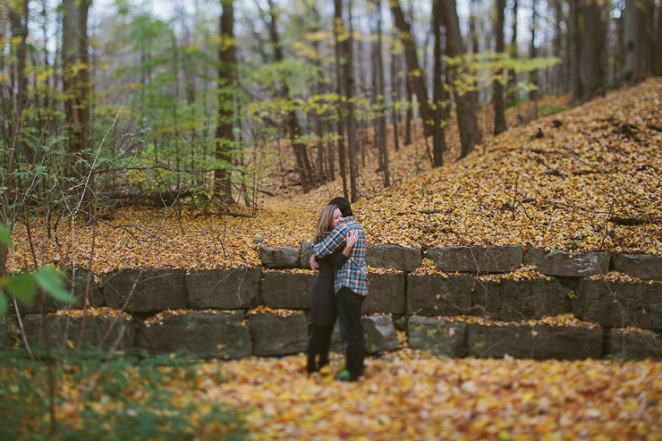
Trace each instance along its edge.
{"label": "blue plaid flannel shirt worn by the hugging man", "polygon": [[344,248],[344,238],[351,230],[359,230],[359,240],[350,251],[349,259],[343,267],[335,268],[334,292],[342,287],[351,289],[359,295],[368,295],[368,268],[366,267],[366,236],[363,228],[354,216],[344,219],[344,222],[334,228],[324,241],[315,243],[311,250],[315,256],[323,258],[341,246]]}

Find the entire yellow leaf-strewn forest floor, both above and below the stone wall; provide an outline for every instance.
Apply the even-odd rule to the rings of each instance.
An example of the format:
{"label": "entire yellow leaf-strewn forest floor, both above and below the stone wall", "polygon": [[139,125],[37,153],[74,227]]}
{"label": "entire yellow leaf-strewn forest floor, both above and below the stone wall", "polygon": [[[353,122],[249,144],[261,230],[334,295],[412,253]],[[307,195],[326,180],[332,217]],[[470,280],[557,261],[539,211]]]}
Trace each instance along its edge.
{"label": "entire yellow leaf-strewn forest floor, both above and below the stone wall", "polygon": [[[512,128],[487,137],[461,161],[455,160],[451,124],[441,168],[430,168],[423,141],[403,146],[392,153],[394,183],[387,189],[373,172],[369,149],[353,208],[370,244],[522,243],[661,254],[662,79],[556,113],[568,102],[541,100],[541,114],[554,114],[518,126],[517,109],[511,109]],[[530,107],[519,111],[529,119]],[[489,114],[480,121],[488,131]],[[142,265],[258,265],[260,245],[310,242],[319,209],[342,195],[340,180],[301,194],[287,181],[289,154],[273,154],[272,174],[259,185],[275,196],[260,193],[256,216],[125,208],[99,224],[96,235],[90,226],[59,225],[56,242],[43,225],[31,225],[35,254],[62,265],[87,263],[95,237],[98,274]],[[13,233],[19,245],[9,266],[30,267],[25,228]],[[236,421],[209,418],[220,406],[242,420],[249,439],[662,440],[662,363],[656,361],[444,360],[403,342],[400,351],[370,357],[364,378],[351,384],[333,379],[343,362],[336,354],[312,376],[303,354],[199,362],[190,369],[158,368],[154,381],[130,366],[83,375],[65,365],[57,376],[55,415],[71,433],[93,438],[118,433],[118,425],[136,436],[150,423],[155,438],[230,437]],[[26,437],[45,433],[47,379],[39,372],[0,365],[0,386],[15,401],[9,407],[0,401],[0,411],[15,417]],[[19,403],[26,411],[14,415]]]}

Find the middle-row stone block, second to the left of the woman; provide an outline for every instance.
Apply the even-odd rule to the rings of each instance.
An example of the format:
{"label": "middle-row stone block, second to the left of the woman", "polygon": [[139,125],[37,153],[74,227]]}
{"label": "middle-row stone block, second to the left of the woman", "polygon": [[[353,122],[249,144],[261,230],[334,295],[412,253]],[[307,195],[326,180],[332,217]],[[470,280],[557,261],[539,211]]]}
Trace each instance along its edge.
{"label": "middle-row stone block, second to the left of the woman", "polygon": [[186,275],[191,310],[245,310],[259,304],[260,267],[210,269]]}

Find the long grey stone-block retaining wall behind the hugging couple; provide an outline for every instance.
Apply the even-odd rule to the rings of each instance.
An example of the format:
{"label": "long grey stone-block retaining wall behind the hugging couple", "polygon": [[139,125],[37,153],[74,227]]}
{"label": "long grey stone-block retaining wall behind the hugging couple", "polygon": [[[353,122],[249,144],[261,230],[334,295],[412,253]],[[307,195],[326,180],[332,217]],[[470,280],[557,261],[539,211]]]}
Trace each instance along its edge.
{"label": "long grey stone-block retaining wall behind the hugging couple", "polygon": [[[77,271],[73,305],[49,301],[51,343],[79,339],[105,351],[180,352],[211,359],[304,352],[309,335],[310,244],[261,250],[262,267],[186,271],[121,269],[88,285]],[[575,360],[624,356],[662,359],[662,256],[522,250],[522,246],[428,250],[380,245],[368,249],[372,267],[363,305],[369,353],[403,344],[446,357]],[[437,271],[414,271],[431,259]],[[493,280],[535,265],[543,276]],[[375,269],[388,268],[388,269]],[[591,276],[618,271],[627,283]],[[85,287],[93,314],[55,314],[82,308]],[[118,314],[123,310],[125,314]],[[24,310],[22,326],[43,346],[44,319]],[[540,318],[570,314],[565,326]],[[459,318],[458,318],[459,316]],[[480,320],[476,320],[480,318]],[[16,325],[0,323],[0,349],[17,341]],[[398,332],[400,331],[400,335]],[[336,330],[333,348],[342,351]]]}

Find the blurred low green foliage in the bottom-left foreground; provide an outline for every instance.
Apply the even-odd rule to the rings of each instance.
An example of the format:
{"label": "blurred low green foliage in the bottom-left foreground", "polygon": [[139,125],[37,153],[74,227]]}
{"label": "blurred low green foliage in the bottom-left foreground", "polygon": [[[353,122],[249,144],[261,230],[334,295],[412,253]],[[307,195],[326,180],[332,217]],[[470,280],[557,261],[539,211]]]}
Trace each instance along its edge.
{"label": "blurred low green foliage in the bottom-left foreground", "polygon": [[[80,420],[58,421],[58,439],[199,439],[204,427],[232,428],[217,437],[242,439],[243,423],[233,412],[204,397],[182,400],[176,394],[195,383],[198,369],[199,360],[172,356],[64,360],[54,371],[57,390],[82,392],[76,402],[63,393],[55,406],[75,407]],[[224,381],[220,375],[210,379]],[[0,359],[0,438],[46,439],[47,381],[39,362],[15,355]]]}

